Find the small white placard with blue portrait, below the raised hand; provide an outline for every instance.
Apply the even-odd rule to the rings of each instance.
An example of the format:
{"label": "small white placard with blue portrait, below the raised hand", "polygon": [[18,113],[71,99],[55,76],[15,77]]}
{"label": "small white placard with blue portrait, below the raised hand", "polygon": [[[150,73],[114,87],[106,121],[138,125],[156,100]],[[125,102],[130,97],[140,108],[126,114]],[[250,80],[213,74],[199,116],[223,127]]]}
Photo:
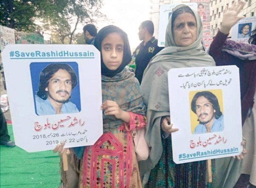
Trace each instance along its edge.
{"label": "small white placard with blue portrait, below the raised hand", "polygon": [[251,31],[256,27],[256,16],[241,19],[232,27],[231,39],[248,43]]}

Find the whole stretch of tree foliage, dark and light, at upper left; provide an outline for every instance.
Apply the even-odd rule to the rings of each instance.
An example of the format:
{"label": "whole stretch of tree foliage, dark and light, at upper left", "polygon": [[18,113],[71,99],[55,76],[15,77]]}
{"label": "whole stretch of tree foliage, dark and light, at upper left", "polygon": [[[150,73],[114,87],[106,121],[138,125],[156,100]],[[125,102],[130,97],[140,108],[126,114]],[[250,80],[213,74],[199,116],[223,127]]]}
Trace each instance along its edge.
{"label": "whole stretch of tree foliage, dark and light, at upper left", "polygon": [[71,44],[78,23],[106,19],[100,12],[103,0],[0,0],[1,25],[19,31],[50,30],[62,44]]}

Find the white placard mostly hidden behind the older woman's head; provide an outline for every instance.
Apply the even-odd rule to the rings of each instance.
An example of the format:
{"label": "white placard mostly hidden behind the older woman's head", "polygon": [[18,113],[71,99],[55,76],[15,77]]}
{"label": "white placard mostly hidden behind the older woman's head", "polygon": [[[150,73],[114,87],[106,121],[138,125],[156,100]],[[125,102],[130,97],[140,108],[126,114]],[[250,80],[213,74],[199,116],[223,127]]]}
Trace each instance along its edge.
{"label": "white placard mostly hidden behind the older woman's head", "polygon": [[[165,33],[169,18],[172,14],[172,9],[175,8],[179,4],[164,4],[160,6],[159,9],[159,30],[158,30],[158,46],[164,47],[165,46]],[[197,3],[184,3],[184,5],[197,10]]]}

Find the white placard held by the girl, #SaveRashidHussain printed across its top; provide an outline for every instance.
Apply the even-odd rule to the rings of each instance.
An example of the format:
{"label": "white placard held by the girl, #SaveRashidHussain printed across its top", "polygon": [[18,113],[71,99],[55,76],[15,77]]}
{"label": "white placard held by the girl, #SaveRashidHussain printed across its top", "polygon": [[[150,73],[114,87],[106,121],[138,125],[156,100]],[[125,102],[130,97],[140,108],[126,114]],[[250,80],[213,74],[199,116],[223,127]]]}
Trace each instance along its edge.
{"label": "white placard held by the girl, #SaveRashidHussain printed across its top", "polygon": [[[38,152],[63,141],[66,148],[97,141],[103,133],[101,68],[100,52],[93,45],[16,44],[7,45],[2,55],[17,146]],[[47,91],[46,100],[38,97],[39,90]],[[52,104],[61,97],[66,100],[67,95],[71,98],[62,104],[62,113],[55,114]]]}

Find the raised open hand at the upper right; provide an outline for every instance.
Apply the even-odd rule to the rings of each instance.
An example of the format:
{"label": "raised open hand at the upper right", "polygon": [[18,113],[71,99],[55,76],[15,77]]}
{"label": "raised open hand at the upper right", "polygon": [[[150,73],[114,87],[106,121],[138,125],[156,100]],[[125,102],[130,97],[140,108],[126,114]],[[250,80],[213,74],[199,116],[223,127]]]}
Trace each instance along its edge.
{"label": "raised open hand at the upper right", "polygon": [[238,1],[234,2],[232,6],[228,9],[228,7],[225,7],[225,10],[223,11],[223,18],[222,18],[222,26],[220,28],[220,32],[224,34],[229,34],[230,29],[244,16],[238,17],[238,14],[243,9],[245,5],[244,1]]}

